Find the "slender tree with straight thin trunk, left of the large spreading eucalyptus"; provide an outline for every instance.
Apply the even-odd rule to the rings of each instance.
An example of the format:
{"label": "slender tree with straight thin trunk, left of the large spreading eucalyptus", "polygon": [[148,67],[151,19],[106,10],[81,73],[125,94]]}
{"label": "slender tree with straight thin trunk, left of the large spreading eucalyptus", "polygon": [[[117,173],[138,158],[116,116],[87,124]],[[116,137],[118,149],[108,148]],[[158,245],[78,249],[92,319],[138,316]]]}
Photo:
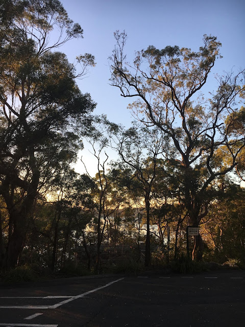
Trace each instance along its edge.
{"label": "slender tree with straight thin trunk, left of the large spreading eucalyptus", "polygon": [[117,149],[121,160],[118,162],[120,169],[128,169],[128,174],[130,173],[125,182],[129,188],[140,190],[144,200],[146,212],[145,266],[150,266],[151,197],[157,169],[159,169],[158,159],[164,152],[164,139],[158,129],[148,130],[135,124],[128,130],[119,126],[118,129],[114,129],[113,142],[113,147]]}

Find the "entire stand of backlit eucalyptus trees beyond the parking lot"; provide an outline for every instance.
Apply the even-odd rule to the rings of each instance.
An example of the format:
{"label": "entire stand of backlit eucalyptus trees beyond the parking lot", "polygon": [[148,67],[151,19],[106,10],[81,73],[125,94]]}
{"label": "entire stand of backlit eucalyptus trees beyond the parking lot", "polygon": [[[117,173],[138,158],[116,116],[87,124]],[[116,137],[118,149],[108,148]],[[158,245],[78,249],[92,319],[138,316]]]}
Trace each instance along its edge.
{"label": "entire stand of backlit eucalyptus trees beyond the parking lot", "polygon": [[[217,77],[204,94],[220,58],[215,36],[197,51],[150,45],[132,63],[126,33],[114,36],[110,83],[132,100],[127,129],[93,115],[79,89],[95,58],[72,64],[62,52],[83,30],[60,1],[0,4],[3,270],[168,264],[185,252],[188,225],[200,230],[188,239],[192,260],[244,259],[244,71]],[[84,145],[94,176],[74,169]]]}

